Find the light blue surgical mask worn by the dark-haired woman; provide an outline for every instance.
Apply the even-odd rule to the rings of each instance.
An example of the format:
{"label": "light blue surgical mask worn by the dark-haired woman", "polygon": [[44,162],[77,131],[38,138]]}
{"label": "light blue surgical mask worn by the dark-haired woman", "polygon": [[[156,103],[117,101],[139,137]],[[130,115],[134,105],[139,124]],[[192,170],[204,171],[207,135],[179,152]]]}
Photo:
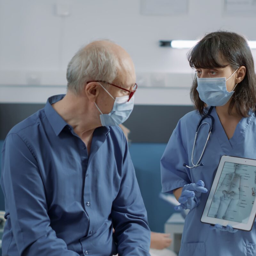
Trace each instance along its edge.
{"label": "light blue surgical mask worn by the dark-haired woman", "polygon": [[[236,69],[236,71],[237,70],[238,68]],[[236,71],[231,76],[233,76]],[[229,76],[228,79],[231,76]],[[228,92],[226,84],[226,81],[228,81],[228,79],[226,79],[226,77],[199,78],[197,76],[196,90],[199,93],[200,99],[204,101],[204,103],[206,103],[208,106],[224,106],[234,94],[234,90],[237,85],[235,85],[231,92]]]}

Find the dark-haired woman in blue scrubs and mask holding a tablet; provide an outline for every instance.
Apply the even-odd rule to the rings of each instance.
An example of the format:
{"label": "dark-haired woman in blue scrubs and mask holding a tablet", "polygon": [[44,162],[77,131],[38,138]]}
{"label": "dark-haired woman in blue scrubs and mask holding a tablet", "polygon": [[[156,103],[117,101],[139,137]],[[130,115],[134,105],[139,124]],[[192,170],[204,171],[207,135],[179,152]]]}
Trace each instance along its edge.
{"label": "dark-haired woman in blue scrubs and mask holding a tablet", "polygon": [[[252,53],[244,37],[218,31],[204,36],[188,53],[188,61],[196,71],[190,91],[196,110],[180,119],[161,159],[162,192],[174,194],[180,202],[177,209],[191,209],[179,255],[256,255],[255,224],[248,232],[200,221],[221,156],[256,159]],[[198,132],[191,160],[197,124],[209,112],[213,121],[204,119],[207,124]]]}

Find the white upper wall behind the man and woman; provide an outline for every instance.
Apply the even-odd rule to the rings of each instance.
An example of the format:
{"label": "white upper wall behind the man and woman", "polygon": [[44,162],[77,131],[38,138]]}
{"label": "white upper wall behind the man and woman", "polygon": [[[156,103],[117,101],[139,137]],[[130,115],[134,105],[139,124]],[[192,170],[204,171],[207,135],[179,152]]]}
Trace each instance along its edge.
{"label": "white upper wall behind the man and woman", "polygon": [[[70,5],[69,16],[56,16],[60,3]],[[165,86],[140,88],[136,104],[190,104],[187,50],[161,48],[158,41],[196,39],[218,29],[256,40],[256,16],[227,16],[224,0],[188,3],[187,14],[144,16],[139,0],[0,0],[0,102],[45,102],[65,93],[65,70],[74,53],[108,38],[132,56],[139,86]]]}

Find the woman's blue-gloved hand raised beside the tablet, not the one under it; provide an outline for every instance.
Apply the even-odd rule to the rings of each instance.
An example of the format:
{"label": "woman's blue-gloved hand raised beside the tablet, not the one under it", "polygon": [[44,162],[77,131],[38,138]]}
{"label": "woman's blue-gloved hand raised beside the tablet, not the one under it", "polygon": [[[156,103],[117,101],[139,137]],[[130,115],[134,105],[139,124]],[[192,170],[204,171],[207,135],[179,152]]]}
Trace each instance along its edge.
{"label": "woman's blue-gloved hand raised beside the tablet, not the one under it", "polygon": [[200,204],[201,194],[207,193],[207,188],[204,188],[204,181],[198,180],[196,183],[190,183],[182,188],[182,192],[178,202],[180,205],[174,207],[175,210],[193,209]]}

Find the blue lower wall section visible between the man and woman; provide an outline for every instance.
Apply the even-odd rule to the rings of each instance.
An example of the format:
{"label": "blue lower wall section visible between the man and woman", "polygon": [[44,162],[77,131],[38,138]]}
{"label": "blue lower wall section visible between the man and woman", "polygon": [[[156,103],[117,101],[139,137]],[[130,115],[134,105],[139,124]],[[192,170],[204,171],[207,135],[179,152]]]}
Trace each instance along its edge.
{"label": "blue lower wall section visible between the man and woman", "polygon": [[141,195],[148,212],[149,227],[164,232],[164,223],[174,212],[173,207],[159,198],[161,192],[160,159],[165,143],[132,143],[130,154]]}

